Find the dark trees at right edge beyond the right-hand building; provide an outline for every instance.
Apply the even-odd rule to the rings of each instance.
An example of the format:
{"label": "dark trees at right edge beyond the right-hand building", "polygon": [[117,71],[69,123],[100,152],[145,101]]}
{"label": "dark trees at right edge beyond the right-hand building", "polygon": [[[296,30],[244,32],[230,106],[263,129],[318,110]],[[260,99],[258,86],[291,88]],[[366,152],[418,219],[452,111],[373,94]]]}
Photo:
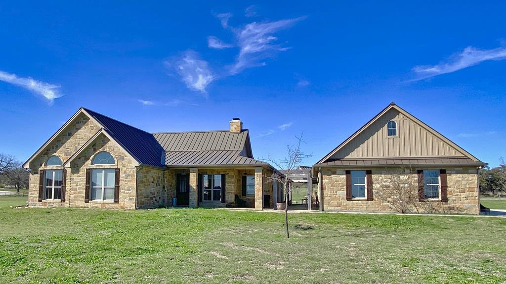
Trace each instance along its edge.
{"label": "dark trees at right edge beyond the right-hand building", "polygon": [[500,159],[498,167],[488,166],[479,171],[480,193],[486,195],[506,194],[506,164]]}

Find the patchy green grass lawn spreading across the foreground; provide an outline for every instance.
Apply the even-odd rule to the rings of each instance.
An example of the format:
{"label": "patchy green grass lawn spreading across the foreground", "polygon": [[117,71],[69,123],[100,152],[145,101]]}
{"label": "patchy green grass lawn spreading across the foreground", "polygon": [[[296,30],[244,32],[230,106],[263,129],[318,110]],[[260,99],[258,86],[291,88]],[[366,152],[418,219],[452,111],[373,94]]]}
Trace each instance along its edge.
{"label": "patchy green grass lawn spreading across the foreground", "polygon": [[224,209],[16,209],[2,283],[501,283],[506,219]]}

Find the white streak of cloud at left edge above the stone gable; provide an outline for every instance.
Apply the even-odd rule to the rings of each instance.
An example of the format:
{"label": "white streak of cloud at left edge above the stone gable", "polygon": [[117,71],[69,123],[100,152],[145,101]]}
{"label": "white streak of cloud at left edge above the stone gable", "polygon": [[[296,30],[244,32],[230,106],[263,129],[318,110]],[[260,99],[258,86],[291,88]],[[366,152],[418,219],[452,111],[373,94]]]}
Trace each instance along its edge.
{"label": "white streak of cloud at left edge above the stone gable", "polygon": [[60,86],[49,84],[42,81],[34,80],[30,77],[22,78],[16,76],[16,74],[10,74],[4,71],[0,71],[0,81],[4,81],[7,83],[11,83],[20,87],[23,87],[27,90],[30,90],[39,96],[43,96],[46,98],[51,104],[54,99],[60,98],[63,96],[58,89]]}

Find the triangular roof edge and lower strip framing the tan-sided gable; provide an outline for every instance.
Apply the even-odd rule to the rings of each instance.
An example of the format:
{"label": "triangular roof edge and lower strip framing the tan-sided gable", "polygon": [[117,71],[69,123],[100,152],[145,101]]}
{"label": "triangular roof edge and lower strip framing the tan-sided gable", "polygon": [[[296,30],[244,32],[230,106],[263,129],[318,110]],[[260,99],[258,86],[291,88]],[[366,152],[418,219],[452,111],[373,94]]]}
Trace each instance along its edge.
{"label": "triangular roof edge and lower strip framing the tan-sided gable", "polygon": [[[383,115],[385,115],[389,110],[395,109],[405,117],[409,118],[413,122],[419,124],[420,126],[427,129],[429,132],[431,132],[434,136],[438,137],[442,141],[444,141],[449,146],[453,147],[456,151],[462,154],[461,157],[450,157],[451,159],[441,159],[443,157],[422,157],[417,159],[417,157],[400,157],[400,158],[363,158],[363,159],[335,159],[332,158],[332,156],[343,149],[345,146],[351,143],[352,140],[354,140],[359,134],[361,134],[365,129],[367,129],[369,126],[371,126],[374,122],[376,122],[379,118],[381,118]],[[463,159],[455,159],[455,158],[463,158]],[[412,162],[412,163],[411,163]],[[369,120],[366,124],[364,124],[360,129],[358,129],[355,133],[353,133],[350,137],[348,137],[346,140],[343,141],[338,147],[334,148],[331,152],[329,152],[325,157],[323,157],[320,161],[318,161],[314,166],[356,166],[356,165],[377,165],[377,166],[383,166],[383,165],[446,165],[446,164],[458,164],[458,165],[486,165],[485,163],[478,160],[476,157],[471,155],[466,150],[462,149],[453,141],[443,136],[441,133],[437,132],[433,128],[431,128],[429,125],[425,124],[424,122],[420,121],[404,109],[397,106],[395,103],[391,103],[388,105],[385,109],[383,109],[381,112],[379,112],[376,116],[374,116],[371,120]]]}

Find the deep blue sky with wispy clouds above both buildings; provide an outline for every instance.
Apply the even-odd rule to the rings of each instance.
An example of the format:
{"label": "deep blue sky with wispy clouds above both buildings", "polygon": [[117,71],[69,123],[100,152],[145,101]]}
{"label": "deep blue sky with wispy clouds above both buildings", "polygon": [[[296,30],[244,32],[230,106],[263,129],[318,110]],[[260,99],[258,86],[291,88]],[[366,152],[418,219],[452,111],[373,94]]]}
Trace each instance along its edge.
{"label": "deep blue sky with wispy clouds above both buildings", "polygon": [[311,165],[390,102],[490,166],[506,157],[504,2],[0,3],[0,152],[80,106],[151,132],[227,129]]}

